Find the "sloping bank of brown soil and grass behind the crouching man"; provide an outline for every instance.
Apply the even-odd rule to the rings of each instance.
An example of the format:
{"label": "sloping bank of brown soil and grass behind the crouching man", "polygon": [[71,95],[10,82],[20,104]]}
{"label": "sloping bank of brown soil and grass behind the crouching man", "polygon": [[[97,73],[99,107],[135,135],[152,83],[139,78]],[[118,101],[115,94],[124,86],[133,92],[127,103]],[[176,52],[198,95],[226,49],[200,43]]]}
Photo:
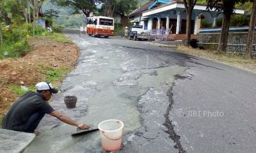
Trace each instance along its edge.
{"label": "sloping bank of brown soil and grass behind the crouching man", "polygon": [[[26,52],[28,54],[26,57],[20,55],[4,57],[0,60],[0,67],[8,66],[7,68],[3,67],[2,71],[4,72],[0,74],[0,77],[7,78],[7,80],[0,79],[0,88],[6,92],[0,93],[2,111],[0,123],[2,123],[4,113],[7,112],[16,98],[28,90],[36,91],[35,84],[37,82],[50,81],[55,87],[59,85],[63,77],[72,70],[79,56],[77,46],[72,44],[70,39],[62,33],[45,32],[35,38],[28,39],[29,42],[30,40],[33,40],[33,47],[28,45],[29,49]],[[35,45],[38,46],[35,47]],[[69,62],[63,62],[63,60]],[[18,76],[26,77],[20,79]],[[17,79],[8,82],[8,77],[16,77]],[[24,81],[25,85],[21,84],[21,81]],[[8,97],[9,95],[12,95],[12,97]]]}

